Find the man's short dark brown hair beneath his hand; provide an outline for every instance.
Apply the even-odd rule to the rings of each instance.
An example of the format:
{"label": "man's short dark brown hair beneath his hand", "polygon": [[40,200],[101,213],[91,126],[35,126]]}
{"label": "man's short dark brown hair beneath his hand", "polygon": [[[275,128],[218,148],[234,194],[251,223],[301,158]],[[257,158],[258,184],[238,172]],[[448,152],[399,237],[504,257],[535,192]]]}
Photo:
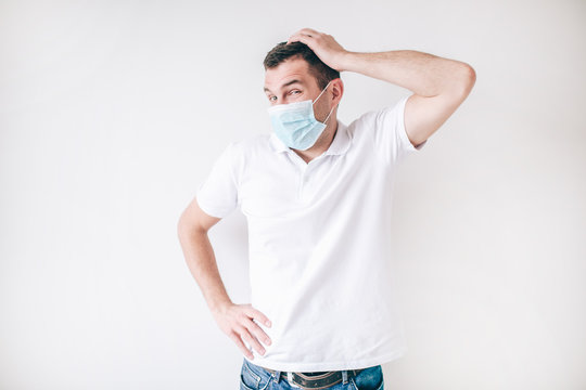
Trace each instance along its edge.
{"label": "man's short dark brown hair beneath his hand", "polygon": [[300,57],[307,62],[309,72],[316,79],[320,89],[324,89],[328,82],[340,77],[340,72],[326,65],[307,44],[298,41],[289,44],[286,44],[286,42],[277,44],[267,53],[263,64],[265,65],[266,70],[268,68],[277,67],[279,64],[293,57]]}

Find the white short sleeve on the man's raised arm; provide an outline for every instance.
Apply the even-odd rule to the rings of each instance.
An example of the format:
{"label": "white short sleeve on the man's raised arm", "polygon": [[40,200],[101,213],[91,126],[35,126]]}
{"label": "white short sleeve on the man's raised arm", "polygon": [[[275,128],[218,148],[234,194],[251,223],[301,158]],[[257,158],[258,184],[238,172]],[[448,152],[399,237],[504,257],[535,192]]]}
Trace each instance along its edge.
{"label": "white short sleeve on the man's raised arm", "polygon": [[374,114],[374,141],[386,162],[397,164],[407,155],[420,151],[428,140],[413,146],[405,131],[405,103],[409,96],[403,98],[394,106],[385,107]]}

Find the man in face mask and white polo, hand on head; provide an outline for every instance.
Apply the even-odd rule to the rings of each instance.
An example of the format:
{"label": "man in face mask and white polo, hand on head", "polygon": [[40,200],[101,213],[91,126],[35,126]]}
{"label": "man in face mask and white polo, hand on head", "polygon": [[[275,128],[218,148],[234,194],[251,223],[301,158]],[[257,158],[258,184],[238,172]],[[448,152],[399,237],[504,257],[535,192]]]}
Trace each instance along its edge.
{"label": "man in face mask and white polo, hand on head", "polygon": [[[273,131],[232,142],[216,160],[178,224],[186,260],[244,353],[241,389],[382,389],[381,364],[406,351],[388,268],[394,173],[463,102],[475,73],[410,50],[351,52],[309,28],[264,65]],[[344,125],[340,72],[412,94]],[[237,206],[249,222],[247,304],[226,294],[207,237]]]}

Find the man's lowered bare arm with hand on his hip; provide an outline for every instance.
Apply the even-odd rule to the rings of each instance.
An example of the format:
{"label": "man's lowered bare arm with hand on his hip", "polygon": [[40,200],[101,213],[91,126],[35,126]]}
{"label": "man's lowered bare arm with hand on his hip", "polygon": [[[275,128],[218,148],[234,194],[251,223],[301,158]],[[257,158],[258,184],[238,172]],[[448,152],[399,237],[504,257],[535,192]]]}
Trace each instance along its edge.
{"label": "man's lowered bare arm with hand on his hip", "polygon": [[194,198],[181,213],[177,234],[189,270],[200,285],[218,326],[249,359],[253,360],[254,355],[242,339],[264,354],[265,349],[258,340],[270,344],[270,338],[253,320],[260,321],[268,327],[270,325],[268,318],[250,303],[234,304],[228,297],[207,236],[208,230],[219,220],[220,218],[205,213]]}

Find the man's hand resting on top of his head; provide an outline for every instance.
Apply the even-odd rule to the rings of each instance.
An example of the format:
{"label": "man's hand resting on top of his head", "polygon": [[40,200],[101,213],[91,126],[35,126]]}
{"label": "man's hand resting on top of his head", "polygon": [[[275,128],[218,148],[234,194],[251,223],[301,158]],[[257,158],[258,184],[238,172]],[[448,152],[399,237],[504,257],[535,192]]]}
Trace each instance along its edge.
{"label": "man's hand resting on top of his head", "polygon": [[316,53],[326,65],[337,72],[344,70],[343,61],[349,52],[342,48],[331,35],[302,28],[289,37],[286,43],[303,42]]}

